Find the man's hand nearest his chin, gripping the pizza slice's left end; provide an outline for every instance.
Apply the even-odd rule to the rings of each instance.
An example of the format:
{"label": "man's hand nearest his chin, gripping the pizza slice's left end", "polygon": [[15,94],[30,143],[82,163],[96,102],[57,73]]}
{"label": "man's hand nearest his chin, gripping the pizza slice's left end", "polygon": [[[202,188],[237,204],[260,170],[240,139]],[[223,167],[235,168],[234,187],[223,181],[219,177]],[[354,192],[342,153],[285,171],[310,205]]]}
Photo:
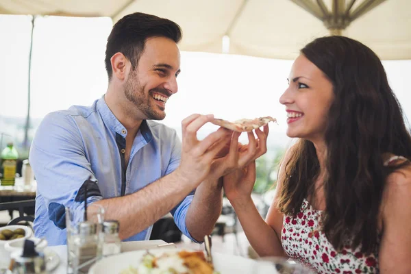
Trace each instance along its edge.
{"label": "man's hand nearest his chin, gripping the pizza slice's left end", "polygon": [[208,176],[216,155],[229,142],[231,132],[220,128],[204,140],[197,139],[197,131],[210,122],[213,115],[192,114],[182,121],[182,160],[177,173],[193,188]]}

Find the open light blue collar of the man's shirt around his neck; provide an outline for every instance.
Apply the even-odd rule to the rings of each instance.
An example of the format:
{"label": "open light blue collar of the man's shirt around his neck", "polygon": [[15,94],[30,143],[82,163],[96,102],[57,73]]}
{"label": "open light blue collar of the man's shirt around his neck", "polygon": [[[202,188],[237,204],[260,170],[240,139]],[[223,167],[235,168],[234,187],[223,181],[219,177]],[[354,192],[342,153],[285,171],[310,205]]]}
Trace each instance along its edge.
{"label": "open light blue collar of the man's shirt around his neck", "polygon": [[[123,136],[123,138],[127,136],[127,129],[120,123],[116,116],[114,116],[110,108],[108,108],[107,103],[105,103],[104,95],[97,101],[97,110],[99,111],[105,125],[107,125],[113,133],[119,134]],[[142,121],[139,131],[145,138],[146,142],[150,142],[153,138],[150,126],[146,120]]]}

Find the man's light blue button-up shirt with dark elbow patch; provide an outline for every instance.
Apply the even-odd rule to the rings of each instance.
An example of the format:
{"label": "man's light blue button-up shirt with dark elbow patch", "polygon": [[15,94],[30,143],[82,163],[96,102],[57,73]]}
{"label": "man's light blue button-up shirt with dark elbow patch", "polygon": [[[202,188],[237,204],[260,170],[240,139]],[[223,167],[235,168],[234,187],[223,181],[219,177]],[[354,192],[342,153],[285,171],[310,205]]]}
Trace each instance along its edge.
{"label": "man's light blue button-up shirt with dark elbow patch", "polygon": [[[173,172],[180,162],[181,142],[174,129],[154,121],[142,121],[125,169],[127,129],[108,108],[104,97],[91,107],[73,106],[45,116],[37,129],[29,154],[37,181],[36,237],[49,245],[66,243],[65,207],[84,216],[87,202],[131,194]],[[189,195],[171,214],[182,232]],[[138,210],[138,208],[136,208]],[[121,225],[121,224],[120,224]],[[127,240],[149,240],[152,226]]]}

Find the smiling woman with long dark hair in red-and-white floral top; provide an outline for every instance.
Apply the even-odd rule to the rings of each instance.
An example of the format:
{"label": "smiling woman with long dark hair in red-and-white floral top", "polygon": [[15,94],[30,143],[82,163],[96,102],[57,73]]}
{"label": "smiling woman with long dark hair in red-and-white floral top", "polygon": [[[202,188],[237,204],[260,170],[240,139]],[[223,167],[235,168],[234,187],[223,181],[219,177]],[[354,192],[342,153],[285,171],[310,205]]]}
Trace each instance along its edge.
{"label": "smiling woman with long dark hair in red-and-white floral top", "polygon": [[266,220],[255,162],[223,180],[252,247],[318,273],[411,273],[411,137],[381,61],[356,40],[317,38],[288,83],[279,101],[299,139]]}

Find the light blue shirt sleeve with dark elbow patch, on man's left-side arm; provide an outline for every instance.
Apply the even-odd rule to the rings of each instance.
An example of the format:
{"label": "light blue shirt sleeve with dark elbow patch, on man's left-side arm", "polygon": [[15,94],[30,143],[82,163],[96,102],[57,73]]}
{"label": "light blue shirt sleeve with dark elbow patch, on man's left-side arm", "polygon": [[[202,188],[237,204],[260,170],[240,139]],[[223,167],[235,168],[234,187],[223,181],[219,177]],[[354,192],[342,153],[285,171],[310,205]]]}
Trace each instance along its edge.
{"label": "light blue shirt sleeve with dark elbow patch, on man's left-side arm", "polygon": [[29,162],[36,176],[38,195],[47,207],[47,219],[56,227],[65,228],[64,207],[75,212],[74,219],[80,221],[85,197],[88,203],[102,199],[72,116],[60,112],[45,116],[32,142]]}

